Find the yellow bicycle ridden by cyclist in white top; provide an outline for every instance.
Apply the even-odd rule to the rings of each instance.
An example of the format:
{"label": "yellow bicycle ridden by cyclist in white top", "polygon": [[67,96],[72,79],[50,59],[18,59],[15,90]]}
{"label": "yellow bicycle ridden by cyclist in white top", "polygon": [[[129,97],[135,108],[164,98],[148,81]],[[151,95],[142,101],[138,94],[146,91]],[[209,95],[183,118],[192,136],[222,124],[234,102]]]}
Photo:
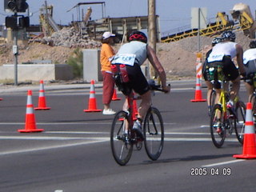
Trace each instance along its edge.
{"label": "yellow bicycle ridden by cyclist in white top", "polygon": [[234,100],[234,110],[226,107],[226,103],[229,101],[229,94],[223,89],[225,79],[222,66],[213,66],[210,68],[213,68],[211,70],[214,71],[211,82],[214,83],[214,86],[219,83],[221,89],[218,103],[214,105],[210,116],[210,135],[212,142],[217,148],[222,147],[226,138],[226,132],[228,131],[231,135],[234,130],[238,142],[242,144],[246,122],[246,105],[236,97]]}

